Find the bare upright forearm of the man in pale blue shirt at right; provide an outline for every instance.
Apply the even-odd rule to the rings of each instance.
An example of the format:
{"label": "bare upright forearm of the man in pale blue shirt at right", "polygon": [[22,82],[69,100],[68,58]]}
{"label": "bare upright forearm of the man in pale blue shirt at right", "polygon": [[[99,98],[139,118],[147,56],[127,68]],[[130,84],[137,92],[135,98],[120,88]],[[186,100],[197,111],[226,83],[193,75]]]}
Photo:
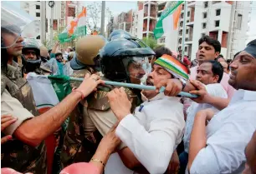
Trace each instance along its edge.
{"label": "bare upright forearm of the man in pale blue shirt at right", "polygon": [[206,115],[197,113],[194,121],[194,125],[192,128],[190,143],[189,143],[189,156],[187,167],[188,170],[192,167],[192,162],[195,157],[197,157],[197,153],[204,147],[206,147],[207,137],[206,137]]}

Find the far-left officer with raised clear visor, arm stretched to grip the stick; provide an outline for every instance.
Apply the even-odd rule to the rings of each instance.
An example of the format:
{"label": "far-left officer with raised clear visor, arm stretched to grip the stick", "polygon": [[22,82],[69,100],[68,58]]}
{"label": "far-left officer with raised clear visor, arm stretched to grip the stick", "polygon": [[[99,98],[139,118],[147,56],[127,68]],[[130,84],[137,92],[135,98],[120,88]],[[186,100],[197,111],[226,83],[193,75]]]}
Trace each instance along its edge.
{"label": "far-left officer with raised clear visor, arm stretched to grip the stick", "polygon": [[8,2],[1,3],[1,117],[10,114],[17,118],[1,132],[1,137],[13,136],[12,141],[1,145],[1,165],[22,173],[41,174],[47,172],[44,139],[59,128],[74,106],[101,81],[96,75],[85,77],[63,102],[38,116],[31,87],[20,76],[20,70],[12,66],[13,57],[22,54],[21,36],[38,34],[38,23],[29,19],[21,9]]}

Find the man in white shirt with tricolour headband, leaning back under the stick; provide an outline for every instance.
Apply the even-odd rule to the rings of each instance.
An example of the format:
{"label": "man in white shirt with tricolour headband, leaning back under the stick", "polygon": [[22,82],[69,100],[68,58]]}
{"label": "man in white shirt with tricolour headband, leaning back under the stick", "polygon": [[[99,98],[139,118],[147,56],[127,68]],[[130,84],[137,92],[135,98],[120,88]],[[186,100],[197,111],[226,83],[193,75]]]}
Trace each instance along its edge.
{"label": "man in white shirt with tricolour headband, leaning back under the stick", "polygon": [[[146,84],[154,86],[161,79],[170,78],[187,81],[188,70],[177,59],[163,55],[156,60]],[[119,152],[120,156],[111,155],[105,174],[131,173],[141,165],[150,173],[164,173],[182,141],[185,122],[180,98],[155,91],[142,91],[142,95],[144,102],[131,112],[131,102],[123,88],[108,94],[112,112],[120,122],[115,133],[127,147]]]}

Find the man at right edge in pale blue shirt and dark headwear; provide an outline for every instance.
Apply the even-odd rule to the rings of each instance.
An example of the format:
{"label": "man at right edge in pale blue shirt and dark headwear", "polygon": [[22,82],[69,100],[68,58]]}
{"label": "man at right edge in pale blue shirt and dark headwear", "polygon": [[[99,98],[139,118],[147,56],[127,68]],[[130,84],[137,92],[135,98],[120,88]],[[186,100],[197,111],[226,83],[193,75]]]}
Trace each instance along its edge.
{"label": "man at right edge in pale blue shirt and dark headwear", "polygon": [[238,91],[228,107],[216,115],[202,110],[195,117],[188,159],[191,174],[244,169],[244,149],[256,129],[256,40],[234,57],[230,67],[228,83]]}

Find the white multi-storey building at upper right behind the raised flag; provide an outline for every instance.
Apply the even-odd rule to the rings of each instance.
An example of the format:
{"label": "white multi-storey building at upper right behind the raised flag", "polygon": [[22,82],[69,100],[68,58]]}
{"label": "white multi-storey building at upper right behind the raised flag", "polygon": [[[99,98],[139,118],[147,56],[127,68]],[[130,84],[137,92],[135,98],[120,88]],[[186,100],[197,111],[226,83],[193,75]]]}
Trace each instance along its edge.
{"label": "white multi-storey building at upper right behind the raised flag", "polygon": [[[161,17],[165,4],[166,2],[157,2],[157,17]],[[182,4],[177,33],[165,33],[157,42],[165,44],[171,50],[181,50],[183,25],[186,25],[185,55],[191,59],[196,58],[198,40],[208,35],[221,42],[221,54],[225,58],[233,58],[236,52],[245,47],[251,4],[252,2],[188,1],[187,14],[184,14]]]}

